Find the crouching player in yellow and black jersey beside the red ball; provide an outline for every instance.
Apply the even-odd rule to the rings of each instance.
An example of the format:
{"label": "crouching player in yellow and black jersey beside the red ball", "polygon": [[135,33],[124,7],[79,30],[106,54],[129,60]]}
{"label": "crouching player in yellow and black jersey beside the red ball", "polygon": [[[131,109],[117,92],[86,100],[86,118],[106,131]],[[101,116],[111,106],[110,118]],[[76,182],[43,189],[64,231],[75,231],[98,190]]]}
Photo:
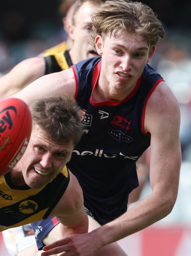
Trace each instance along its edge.
{"label": "crouching player in yellow and black jersey beside the red ball", "polygon": [[[56,215],[61,222],[58,236],[86,233],[88,216],[83,193],[76,177],[66,167],[83,133],[79,107],[71,97],[63,96],[38,100],[30,109],[33,127],[30,140],[25,142],[26,151],[0,177],[4,195],[0,231]],[[37,232],[41,231],[39,227]],[[9,249],[15,255],[18,248]]]}

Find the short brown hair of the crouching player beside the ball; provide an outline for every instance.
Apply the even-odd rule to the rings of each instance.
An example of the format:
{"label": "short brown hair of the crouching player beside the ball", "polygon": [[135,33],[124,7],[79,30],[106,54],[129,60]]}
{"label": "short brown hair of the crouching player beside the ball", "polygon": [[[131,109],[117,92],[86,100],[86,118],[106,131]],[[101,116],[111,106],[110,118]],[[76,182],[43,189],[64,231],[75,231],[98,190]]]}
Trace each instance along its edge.
{"label": "short brown hair of the crouching player beside the ball", "polygon": [[33,125],[38,125],[53,141],[73,141],[83,134],[80,109],[70,96],[46,97],[30,105]]}

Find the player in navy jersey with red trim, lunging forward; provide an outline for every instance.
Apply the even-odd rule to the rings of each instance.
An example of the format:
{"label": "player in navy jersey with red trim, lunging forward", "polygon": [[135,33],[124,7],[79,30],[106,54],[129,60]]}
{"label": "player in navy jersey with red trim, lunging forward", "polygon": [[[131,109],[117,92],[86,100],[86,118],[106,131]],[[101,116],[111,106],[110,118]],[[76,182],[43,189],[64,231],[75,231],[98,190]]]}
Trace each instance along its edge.
{"label": "player in navy jersey with red trim, lunging forward", "polygon": [[[175,96],[148,62],[165,35],[153,10],[140,2],[106,1],[93,14],[93,43],[101,57],[44,76],[15,97],[27,103],[69,94],[81,108],[85,133],[67,164],[77,177],[89,233],[59,241],[51,232],[43,256],[125,255],[116,244],[167,216],[175,204],[181,150]],[[150,146],[152,193],[127,211],[138,186],[136,161]],[[43,225],[43,221],[42,221]]]}

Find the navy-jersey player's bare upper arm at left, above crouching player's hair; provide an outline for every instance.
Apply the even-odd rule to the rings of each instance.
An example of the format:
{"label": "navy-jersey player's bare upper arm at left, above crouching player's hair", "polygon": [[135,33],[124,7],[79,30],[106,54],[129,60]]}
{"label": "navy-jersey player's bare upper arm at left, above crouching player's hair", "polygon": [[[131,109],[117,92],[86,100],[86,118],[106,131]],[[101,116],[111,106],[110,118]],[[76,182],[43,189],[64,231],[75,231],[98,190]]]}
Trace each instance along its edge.
{"label": "navy-jersey player's bare upper arm at left, above crouching player's hair", "polygon": [[13,97],[24,100],[27,104],[47,96],[67,94],[74,97],[76,81],[72,69],[42,76],[29,84]]}

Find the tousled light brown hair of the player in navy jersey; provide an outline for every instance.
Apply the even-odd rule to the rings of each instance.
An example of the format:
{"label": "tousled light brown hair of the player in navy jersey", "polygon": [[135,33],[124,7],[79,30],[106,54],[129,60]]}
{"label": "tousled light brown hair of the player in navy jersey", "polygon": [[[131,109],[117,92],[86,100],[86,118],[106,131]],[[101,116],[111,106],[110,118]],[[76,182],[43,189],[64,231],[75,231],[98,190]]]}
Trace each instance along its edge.
{"label": "tousled light brown hair of the player in navy jersey", "polygon": [[104,37],[120,30],[143,35],[151,45],[156,45],[159,38],[163,38],[165,31],[162,22],[146,4],[128,0],[111,0],[102,4],[92,15],[93,33],[92,44],[95,46],[97,35]]}

